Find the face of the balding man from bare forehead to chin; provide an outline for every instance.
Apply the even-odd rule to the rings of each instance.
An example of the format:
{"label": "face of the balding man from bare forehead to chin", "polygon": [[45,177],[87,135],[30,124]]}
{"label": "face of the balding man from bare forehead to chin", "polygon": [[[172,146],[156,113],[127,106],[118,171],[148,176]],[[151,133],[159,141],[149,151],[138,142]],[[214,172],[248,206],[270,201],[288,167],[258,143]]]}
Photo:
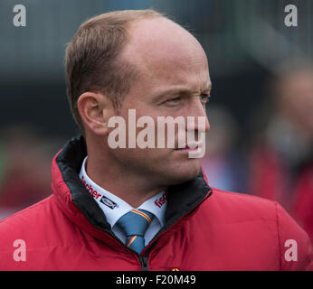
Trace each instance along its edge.
{"label": "face of the balding man from bare forehead to chin", "polygon": [[[139,78],[120,110],[119,116],[126,120],[126,127],[128,109],[136,109],[137,119],[152,117],[155,124],[157,117],[184,117],[185,124],[187,117],[194,117],[195,139],[199,136],[197,117],[205,117],[204,129],[208,131],[205,102],[211,81],[199,42],[180,26],[163,18],[132,23],[128,32],[130,40],[121,58],[137,66]],[[142,129],[137,128],[137,134]],[[178,134],[176,127],[175,134],[170,136],[175,139],[176,147]],[[147,175],[151,182],[162,185],[188,181],[200,170],[199,158],[189,158],[188,151],[176,148],[140,149],[137,146],[112,149],[112,154],[127,170]]]}

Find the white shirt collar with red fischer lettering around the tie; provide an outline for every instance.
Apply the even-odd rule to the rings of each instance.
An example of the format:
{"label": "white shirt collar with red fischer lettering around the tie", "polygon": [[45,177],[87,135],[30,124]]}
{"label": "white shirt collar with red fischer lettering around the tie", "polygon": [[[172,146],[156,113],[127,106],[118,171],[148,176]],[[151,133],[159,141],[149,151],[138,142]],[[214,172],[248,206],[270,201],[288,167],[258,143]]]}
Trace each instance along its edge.
{"label": "white shirt collar with red fischer lettering around the tie", "polygon": [[156,236],[156,233],[165,223],[166,213],[166,192],[161,191],[156,196],[146,200],[138,208],[133,208],[125,200],[120,199],[115,194],[103,189],[97,183],[93,182],[87,175],[85,163],[88,156],[85,157],[81,165],[80,178],[91,196],[97,201],[103,210],[113,233],[125,244],[126,236],[124,232],[116,225],[120,217],[128,213],[129,210],[142,209],[153,213],[156,217],[152,220],[145,234],[145,245]]}

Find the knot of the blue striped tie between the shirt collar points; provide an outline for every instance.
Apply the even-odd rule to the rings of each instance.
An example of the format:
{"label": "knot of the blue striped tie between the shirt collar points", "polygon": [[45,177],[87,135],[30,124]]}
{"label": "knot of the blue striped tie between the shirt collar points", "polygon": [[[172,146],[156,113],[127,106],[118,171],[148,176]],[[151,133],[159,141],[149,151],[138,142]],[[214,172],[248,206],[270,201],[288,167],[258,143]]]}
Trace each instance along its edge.
{"label": "knot of the blue striped tie between the shirt collar points", "polygon": [[117,225],[123,230],[126,236],[144,237],[147,227],[151,224],[154,214],[147,210],[130,210],[119,218]]}

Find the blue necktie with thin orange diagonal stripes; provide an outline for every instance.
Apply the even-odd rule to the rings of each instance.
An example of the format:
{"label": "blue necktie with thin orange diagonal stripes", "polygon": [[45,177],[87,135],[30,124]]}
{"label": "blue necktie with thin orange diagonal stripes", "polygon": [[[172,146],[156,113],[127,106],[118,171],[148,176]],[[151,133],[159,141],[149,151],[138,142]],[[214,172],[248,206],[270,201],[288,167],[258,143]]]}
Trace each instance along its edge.
{"label": "blue necktie with thin orange diagonal stripes", "polygon": [[145,232],[154,217],[154,214],[147,210],[134,209],[119,218],[117,225],[127,237],[127,247],[140,254],[145,247]]}

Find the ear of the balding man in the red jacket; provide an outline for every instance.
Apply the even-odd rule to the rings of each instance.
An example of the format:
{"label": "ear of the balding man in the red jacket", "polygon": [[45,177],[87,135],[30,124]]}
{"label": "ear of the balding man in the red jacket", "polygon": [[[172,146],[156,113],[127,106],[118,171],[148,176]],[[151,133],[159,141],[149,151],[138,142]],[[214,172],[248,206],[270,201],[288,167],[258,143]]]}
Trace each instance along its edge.
{"label": "ear of the balding man in the red jacket", "polygon": [[95,135],[108,135],[109,117],[115,115],[112,102],[100,92],[84,92],[77,100],[81,120]]}

